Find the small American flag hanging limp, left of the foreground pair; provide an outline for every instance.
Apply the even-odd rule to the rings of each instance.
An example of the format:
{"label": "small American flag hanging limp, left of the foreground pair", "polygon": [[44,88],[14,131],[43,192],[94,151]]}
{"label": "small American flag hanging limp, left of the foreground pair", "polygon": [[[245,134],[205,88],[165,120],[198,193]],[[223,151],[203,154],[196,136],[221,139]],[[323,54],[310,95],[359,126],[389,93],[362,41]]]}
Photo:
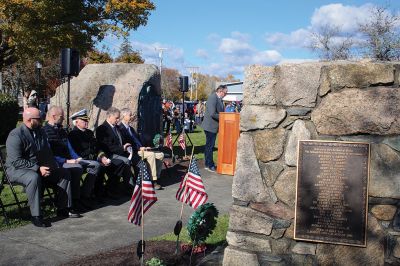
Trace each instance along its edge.
{"label": "small American flag hanging limp, left of the foreground pair", "polygon": [[[143,161],[139,164],[139,175],[136,180],[135,189],[132,194],[131,205],[129,206],[128,221],[140,225],[142,221],[142,197],[143,214],[157,201],[156,192],[150,180],[147,166]],[[141,186],[141,177],[143,176],[143,191]]]}

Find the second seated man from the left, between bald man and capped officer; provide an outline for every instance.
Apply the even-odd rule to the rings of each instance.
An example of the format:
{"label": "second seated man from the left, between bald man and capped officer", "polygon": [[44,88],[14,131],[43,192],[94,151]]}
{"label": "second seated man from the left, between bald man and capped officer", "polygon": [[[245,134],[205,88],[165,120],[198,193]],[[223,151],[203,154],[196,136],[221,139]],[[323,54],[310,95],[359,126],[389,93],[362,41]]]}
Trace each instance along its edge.
{"label": "second seated man from the left, between bald man and capped officer", "polygon": [[[82,158],[80,158],[72,149],[71,144],[68,141],[67,132],[62,128],[63,121],[63,109],[59,106],[52,106],[47,112],[47,122],[45,123],[43,129],[47,134],[50,148],[53,151],[58,165],[67,169],[71,174],[71,190],[74,207],[80,211],[86,211],[86,209],[91,209],[93,206],[91,206],[88,202],[81,200],[81,196],[83,199],[89,198],[89,192],[93,190],[96,176],[94,174],[88,174],[86,176],[81,193],[80,180],[82,177],[83,168],[80,164],[80,161]],[[98,163],[94,163],[97,164],[97,168],[99,168]],[[87,166],[84,163],[83,165]]]}

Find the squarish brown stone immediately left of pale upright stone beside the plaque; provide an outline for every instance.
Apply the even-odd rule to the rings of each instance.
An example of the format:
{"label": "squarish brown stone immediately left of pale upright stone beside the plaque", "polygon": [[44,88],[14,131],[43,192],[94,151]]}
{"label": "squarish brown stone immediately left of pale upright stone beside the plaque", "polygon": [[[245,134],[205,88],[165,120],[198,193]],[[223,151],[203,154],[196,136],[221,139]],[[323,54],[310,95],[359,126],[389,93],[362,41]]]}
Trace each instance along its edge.
{"label": "squarish brown stone immediately left of pale upright stone beside the plaque", "polygon": [[285,130],[282,128],[261,130],[253,135],[257,159],[262,162],[276,160],[283,153]]}

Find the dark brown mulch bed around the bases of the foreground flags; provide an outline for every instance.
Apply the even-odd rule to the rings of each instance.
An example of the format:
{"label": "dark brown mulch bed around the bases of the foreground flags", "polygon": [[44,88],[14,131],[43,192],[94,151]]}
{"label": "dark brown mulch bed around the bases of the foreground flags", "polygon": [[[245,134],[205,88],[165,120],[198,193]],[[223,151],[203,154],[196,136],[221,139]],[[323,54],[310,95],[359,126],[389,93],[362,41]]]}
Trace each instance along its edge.
{"label": "dark brown mulch bed around the bases of the foreground flags", "polygon": [[[190,250],[185,252],[180,251],[175,255],[175,245],[176,243],[173,241],[146,241],[144,262],[157,257],[166,265],[189,265]],[[215,246],[207,245],[204,253],[193,254],[191,265],[196,265],[197,262],[200,262],[205,255],[211,253],[214,249]],[[63,265],[140,265],[140,261],[136,255],[135,244],[135,246],[126,246],[96,255],[81,257]]]}

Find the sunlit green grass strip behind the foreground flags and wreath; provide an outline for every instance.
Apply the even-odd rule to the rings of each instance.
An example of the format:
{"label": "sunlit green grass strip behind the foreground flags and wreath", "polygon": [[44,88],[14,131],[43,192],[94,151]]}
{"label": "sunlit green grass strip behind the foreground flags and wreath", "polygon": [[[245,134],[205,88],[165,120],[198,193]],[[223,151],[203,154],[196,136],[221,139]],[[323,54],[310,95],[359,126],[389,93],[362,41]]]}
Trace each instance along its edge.
{"label": "sunlit green grass strip behind the foreground flags and wreath", "polygon": [[[206,239],[206,244],[210,245],[221,245],[225,242],[226,232],[228,231],[229,216],[224,214],[218,217],[217,226],[215,227],[212,234]],[[167,240],[176,241],[176,235],[173,232],[167,233],[161,236],[153,237],[150,240]],[[186,226],[182,227],[181,234],[179,236],[181,243],[190,243],[191,239],[188,235]]]}

